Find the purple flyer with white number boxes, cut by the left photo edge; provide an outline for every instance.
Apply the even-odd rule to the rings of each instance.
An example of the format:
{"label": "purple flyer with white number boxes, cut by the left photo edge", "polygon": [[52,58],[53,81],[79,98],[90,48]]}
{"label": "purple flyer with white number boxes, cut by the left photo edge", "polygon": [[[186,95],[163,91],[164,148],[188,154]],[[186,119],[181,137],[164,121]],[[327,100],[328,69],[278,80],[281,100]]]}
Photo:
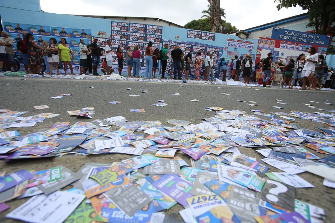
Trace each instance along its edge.
{"label": "purple flyer with white number boxes, cut by the left photo edge", "polygon": [[12,188],[22,182],[34,178],[30,172],[26,170],[20,170],[15,173],[8,174],[0,178],[0,192],[3,192],[9,188]]}

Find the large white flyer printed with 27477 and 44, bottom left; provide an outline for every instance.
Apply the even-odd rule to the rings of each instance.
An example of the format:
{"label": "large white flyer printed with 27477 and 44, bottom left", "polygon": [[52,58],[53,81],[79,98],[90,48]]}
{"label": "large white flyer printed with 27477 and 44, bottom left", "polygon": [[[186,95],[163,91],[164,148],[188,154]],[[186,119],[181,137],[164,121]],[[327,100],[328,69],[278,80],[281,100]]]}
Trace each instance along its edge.
{"label": "large white flyer printed with 27477 and 44, bottom left", "polygon": [[36,195],[6,217],[32,223],[62,223],[85,197],[65,191],[56,191],[49,196]]}

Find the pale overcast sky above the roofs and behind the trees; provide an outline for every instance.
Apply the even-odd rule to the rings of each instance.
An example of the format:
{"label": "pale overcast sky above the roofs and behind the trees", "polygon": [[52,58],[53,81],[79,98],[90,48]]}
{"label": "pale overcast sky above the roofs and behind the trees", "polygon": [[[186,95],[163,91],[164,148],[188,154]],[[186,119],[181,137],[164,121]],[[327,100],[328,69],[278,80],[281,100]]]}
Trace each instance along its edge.
{"label": "pale overcast sky above the roofs and behind the trees", "polygon": [[[193,19],[200,19],[201,11],[207,9],[207,0],[169,0],[161,4],[159,0],[40,0],[45,12],[76,15],[108,15],[157,17],[179,25],[185,25]],[[277,11],[274,0],[221,0],[226,21],[238,29],[273,22],[279,19],[302,14],[300,7]],[[64,7],[60,7],[64,6]]]}

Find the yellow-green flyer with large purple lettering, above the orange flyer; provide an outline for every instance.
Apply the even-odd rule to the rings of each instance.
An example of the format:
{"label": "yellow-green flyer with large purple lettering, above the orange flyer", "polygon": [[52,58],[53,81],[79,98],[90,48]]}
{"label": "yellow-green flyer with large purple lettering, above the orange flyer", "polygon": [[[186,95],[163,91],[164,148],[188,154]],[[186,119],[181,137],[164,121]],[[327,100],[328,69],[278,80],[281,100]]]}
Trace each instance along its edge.
{"label": "yellow-green flyer with large purple lettering, above the orange flyer", "polygon": [[117,163],[89,177],[94,179],[100,185],[105,186],[108,183],[117,180],[119,176],[125,175],[133,170],[134,169],[128,164]]}

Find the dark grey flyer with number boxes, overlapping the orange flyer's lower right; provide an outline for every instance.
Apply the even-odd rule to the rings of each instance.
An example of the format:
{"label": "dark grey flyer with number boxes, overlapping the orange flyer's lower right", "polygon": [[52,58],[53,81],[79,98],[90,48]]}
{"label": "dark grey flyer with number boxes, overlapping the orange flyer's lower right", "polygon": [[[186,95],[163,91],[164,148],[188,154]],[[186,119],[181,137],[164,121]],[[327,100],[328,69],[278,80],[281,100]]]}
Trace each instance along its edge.
{"label": "dark grey flyer with number boxes, overlapping the orange flyer's lower right", "polygon": [[132,217],[152,201],[152,198],[132,184],[118,187],[108,198],[126,215]]}

